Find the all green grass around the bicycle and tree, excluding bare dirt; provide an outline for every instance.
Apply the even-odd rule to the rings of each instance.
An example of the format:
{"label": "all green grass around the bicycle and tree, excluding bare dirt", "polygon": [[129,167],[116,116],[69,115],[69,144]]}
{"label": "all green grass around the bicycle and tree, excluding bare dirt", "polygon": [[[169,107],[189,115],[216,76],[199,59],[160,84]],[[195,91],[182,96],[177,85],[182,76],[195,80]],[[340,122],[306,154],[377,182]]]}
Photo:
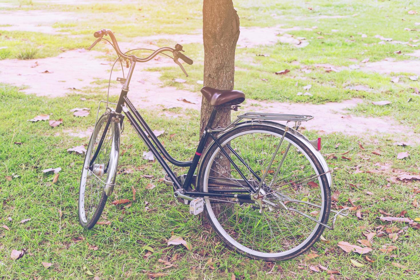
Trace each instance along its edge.
{"label": "all green grass around the bicycle and tree, excluding bare dirt", "polygon": [[[49,1],[20,3],[22,6],[19,9],[66,11],[79,14],[80,19],[55,23],[55,29],[68,32],[63,35],[5,31],[0,26],[0,47],[8,47],[0,49],[0,59],[19,56],[44,58],[58,55],[63,50],[88,47],[94,39],[92,33],[100,28],[115,31],[117,39],[129,40],[152,34],[193,33],[202,26],[202,3],[195,0],[160,1],[160,5],[153,5],[156,1],[78,5],[59,5]],[[241,18],[241,26],[300,26],[301,30],[287,33],[294,37],[306,37],[310,41],[303,48],[278,43],[238,49],[236,88],[244,90],[247,97],[312,103],[360,97],[364,102],[352,109],[352,113],[388,116],[404,121],[407,127],[419,132],[420,99],[412,93],[415,87],[420,88],[420,83],[409,80],[409,70],[399,73],[400,82],[394,84],[390,82],[394,75],[348,68],[339,73],[325,73],[323,68],[315,67],[317,63],[330,63],[337,67],[362,64],[360,61],[365,58],[373,62],[383,58],[414,59],[394,54],[394,51],[412,52],[419,49],[418,46],[377,44],[380,39],[374,36],[380,34],[404,42],[410,38],[418,39],[418,31],[404,31],[404,28],[420,29],[420,26],[414,26],[415,22],[420,22],[418,14],[407,13],[409,10],[420,13],[418,2],[237,0],[234,5]],[[4,8],[5,11],[15,9],[18,8]],[[345,17],[321,18],[336,15]],[[312,26],[318,28],[313,31],[303,29]],[[332,29],[338,31],[333,32]],[[359,33],[366,34],[367,38],[362,38]],[[319,36],[324,39],[316,39]],[[158,43],[166,45],[175,42],[160,40]],[[196,81],[202,80],[204,58],[202,46],[185,44],[184,49],[194,59],[194,65],[186,69],[190,77],[185,88],[198,91],[200,85]],[[98,50],[105,48],[98,46]],[[312,72],[304,73],[299,66],[306,66]],[[284,69],[291,72],[286,76],[274,74]],[[157,69],[151,65],[150,70],[164,71],[162,79],[171,85],[171,80],[179,77],[176,67]],[[7,81],[0,78],[1,82]],[[297,92],[302,92],[302,87],[307,84],[312,84],[310,92],[313,96],[297,96]],[[346,89],[346,86],[354,85],[364,85],[372,91]],[[415,199],[420,201],[419,181],[401,182],[395,179],[405,173],[419,174],[419,146],[395,145],[395,135],[365,135],[359,138],[334,133],[322,136],[323,154],[336,153],[337,157],[335,159],[331,155],[327,160],[334,170],[333,191],[340,192],[336,203],[351,206],[351,199],[360,207],[362,218],[358,219],[356,211],[352,211],[349,217],[338,221],[335,230],[326,230],[323,236],[327,241],[319,241],[311,249],[312,253],[319,255],[314,259],[305,260],[304,254],[287,262],[270,263],[250,260],[226,249],[213,230],[202,225],[200,217],[189,215],[187,207],[174,201],[171,188],[159,181],[164,176],[163,170],[157,162],[142,159],[142,153],[147,149],[128,125],[122,136],[121,150],[126,152],[120,157],[119,170],[132,172],[117,176],[118,185],[102,215],[102,221],[110,221],[111,224],[97,225],[90,231],[82,230],[77,220],[77,200],[84,156],[70,154],[67,149],[89,141],[87,137],[70,136],[69,132],[87,131],[95,122],[97,101],[104,96],[93,92],[102,89],[103,84],[99,81],[98,85],[92,86],[95,88],[78,95],[51,99],[26,95],[13,86],[0,84],[0,118],[3,120],[0,125],[0,212],[3,213],[0,225],[8,228],[0,228],[0,278],[91,279],[95,275],[100,279],[147,279],[148,272],[163,272],[170,279],[231,279],[232,273],[236,279],[328,279],[325,271],[310,269],[310,266],[318,264],[339,271],[341,275],[334,275],[336,279],[420,277],[420,231],[408,224],[378,219],[383,216],[380,211],[388,212],[390,217],[407,211],[405,217],[420,218],[419,208],[413,205]],[[182,88],[184,84],[176,86]],[[81,97],[88,100],[82,101]],[[371,103],[378,100],[392,103],[379,107]],[[76,118],[69,111],[75,107],[89,107],[91,112],[85,118]],[[159,138],[168,151],[180,160],[188,160],[194,154],[199,138],[199,114],[194,110],[170,110],[181,114],[181,117],[168,118],[161,109],[140,111],[152,129],[165,129]],[[27,121],[39,114],[50,114],[50,119],[54,120],[63,118],[63,124],[51,128],[45,121]],[[310,139],[319,136],[316,131],[303,130],[302,133]],[[404,134],[403,131],[396,133]],[[360,148],[358,141],[363,141],[365,149]],[[381,155],[373,154],[374,151]],[[400,152],[409,152],[410,156],[398,160]],[[55,183],[53,174],[42,173],[50,167],[62,168]],[[175,170],[178,174],[185,172],[183,168]],[[148,183],[156,187],[147,190],[145,186]],[[131,207],[121,209],[110,203],[115,199],[132,200],[131,186],[136,189],[136,200],[132,201]],[[148,201],[147,205],[145,201]],[[148,210],[145,210],[146,206]],[[31,220],[21,223],[21,220],[29,218]],[[387,228],[397,232],[399,238],[394,241],[389,238]],[[357,253],[346,253],[337,246],[339,241],[359,244],[357,240],[365,239],[363,233],[368,230],[378,233],[371,241],[373,251],[365,254],[373,262]],[[381,235],[381,232],[384,234]],[[192,244],[192,250],[184,246],[167,246],[166,242],[173,234],[183,236]],[[79,236],[83,237],[82,240],[75,242]],[[97,250],[89,249],[95,246]],[[150,248],[146,249],[146,246]],[[396,246],[397,249],[386,254],[380,250],[383,246]],[[13,249],[26,249],[26,254],[13,261],[10,257]],[[148,251],[150,249],[152,254]],[[173,261],[176,267],[163,270],[165,265],[159,259],[171,260],[174,256],[177,256]],[[364,266],[355,267],[351,260]],[[52,266],[45,268],[42,262],[52,263]]]}

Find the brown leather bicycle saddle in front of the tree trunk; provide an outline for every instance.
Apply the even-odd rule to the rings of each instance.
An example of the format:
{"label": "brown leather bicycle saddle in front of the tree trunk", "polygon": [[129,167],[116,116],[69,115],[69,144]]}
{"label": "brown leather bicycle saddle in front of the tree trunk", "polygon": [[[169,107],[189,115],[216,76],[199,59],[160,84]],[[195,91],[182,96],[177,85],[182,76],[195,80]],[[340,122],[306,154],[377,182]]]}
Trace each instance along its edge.
{"label": "brown leather bicycle saddle in front of the tree trunk", "polygon": [[204,86],[201,93],[210,102],[210,105],[238,105],[244,102],[245,94],[239,90],[228,89],[220,90],[213,89],[209,86]]}

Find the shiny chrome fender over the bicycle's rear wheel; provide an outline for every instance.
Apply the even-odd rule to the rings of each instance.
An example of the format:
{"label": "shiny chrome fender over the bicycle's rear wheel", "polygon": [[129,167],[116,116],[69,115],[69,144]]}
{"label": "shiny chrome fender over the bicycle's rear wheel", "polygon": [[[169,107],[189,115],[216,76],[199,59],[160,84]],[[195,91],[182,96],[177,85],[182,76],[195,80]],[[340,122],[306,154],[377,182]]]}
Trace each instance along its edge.
{"label": "shiny chrome fender over the bicycle's rear wheel", "polygon": [[[268,120],[260,120],[260,121],[246,121],[246,122],[241,122],[241,123],[236,123],[234,126],[228,126],[228,128],[226,129],[226,130],[223,130],[223,131],[220,131],[217,135],[216,135],[216,138],[218,139],[218,138],[220,138],[221,136],[223,136],[224,134],[226,134],[227,132],[229,132],[229,131],[231,131],[231,130],[233,130],[233,129],[235,129],[235,128],[238,128],[238,127],[241,127],[241,126],[252,126],[252,125],[254,125],[254,124],[258,124],[258,125],[265,125],[265,126],[271,126],[271,127],[275,127],[275,128],[280,128],[280,129],[283,129],[283,130],[285,130],[286,129],[286,126],[285,125],[283,125],[283,124],[281,124],[281,123],[275,123],[275,122],[272,122],[272,121],[268,121]],[[287,131],[287,133],[290,133],[291,135],[293,135],[294,137],[296,137],[297,139],[299,139],[300,141],[302,141],[302,143],[308,148],[308,149],[310,149],[310,151],[313,153],[313,154],[315,154],[315,157],[318,159],[318,161],[320,162],[320,164],[321,164],[321,167],[323,168],[323,173],[325,173],[325,172],[327,172],[328,170],[330,170],[329,168],[328,168],[328,164],[327,164],[327,162],[325,161],[325,158],[323,157],[323,155],[318,151],[318,149],[316,149],[312,144],[311,144],[311,142],[310,142],[310,140],[309,139],[307,139],[307,137],[306,136],[304,136],[302,133],[300,133],[299,131],[297,131],[297,130],[294,130],[293,128],[288,128],[289,130]],[[207,154],[207,152],[209,151],[209,149],[210,149],[210,147],[212,146],[212,144],[214,143],[214,141],[213,140],[211,140],[210,141],[210,143],[207,145],[207,147],[206,147],[206,149],[204,150],[204,152],[202,152],[202,155],[201,155],[201,159],[204,159],[204,157],[205,157],[205,155]],[[200,160],[200,162],[199,162],[199,164],[198,164],[198,169],[197,170],[200,170],[200,168],[201,168],[201,165],[202,165],[202,160]],[[330,185],[330,188],[332,188],[333,187],[333,180],[332,180],[332,178],[331,178],[331,172],[328,172],[328,173],[326,173],[325,174],[326,176],[327,176],[327,180],[328,180],[328,183],[329,183],[329,185]],[[199,176],[197,176],[197,179],[196,180],[198,180],[198,177]],[[197,186],[197,181],[196,181],[196,186]]]}

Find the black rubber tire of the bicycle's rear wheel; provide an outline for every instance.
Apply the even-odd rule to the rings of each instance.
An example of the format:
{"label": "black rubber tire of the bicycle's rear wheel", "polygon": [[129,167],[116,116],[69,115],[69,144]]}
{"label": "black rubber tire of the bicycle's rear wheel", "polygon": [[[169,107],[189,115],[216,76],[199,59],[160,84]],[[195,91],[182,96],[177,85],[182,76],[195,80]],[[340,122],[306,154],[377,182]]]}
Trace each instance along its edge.
{"label": "black rubber tire of the bicycle's rear wheel", "polygon": [[[282,130],[281,128],[276,128],[273,126],[266,126],[266,125],[248,125],[248,126],[241,126],[238,128],[235,128],[229,132],[227,132],[226,134],[222,135],[218,140],[220,143],[223,143],[223,141],[225,141],[226,139],[230,138],[231,136],[235,135],[236,133],[240,133],[242,131],[250,131],[250,130],[255,130],[255,129],[259,129],[259,130],[266,130],[266,131],[271,131],[271,132],[276,132],[280,135],[282,135],[284,133],[284,130]],[[315,154],[313,154],[310,149],[308,149],[299,139],[297,139],[296,137],[294,137],[293,135],[291,135],[291,133],[287,134],[287,138],[290,139],[291,141],[294,141],[296,144],[299,145],[299,147],[301,147],[307,154],[308,156],[311,158],[311,160],[314,162],[315,166],[318,169],[319,174],[324,173],[324,170],[320,164],[320,162],[318,161],[318,159],[316,158]],[[211,155],[215,152],[215,150],[218,148],[217,144],[213,143],[213,145],[210,147],[210,149],[208,150],[208,152],[205,154],[205,157],[203,159],[202,165],[200,167],[199,173],[198,173],[198,178],[197,178],[197,191],[203,191],[203,182],[205,180],[205,167],[207,166],[207,164],[209,163],[210,157]],[[328,179],[327,176],[321,175],[321,180],[323,182],[323,186],[324,186],[324,197],[325,197],[325,205],[326,205],[326,211],[324,212],[324,215],[322,217],[321,222],[323,223],[327,223],[328,222],[328,218],[330,215],[330,210],[331,210],[331,189],[328,183]],[[218,236],[220,237],[220,239],[223,240],[223,242],[231,249],[235,250],[236,252],[240,253],[240,254],[244,254],[249,258],[252,259],[262,259],[265,261],[284,261],[284,260],[288,260],[288,259],[292,259],[296,256],[299,256],[300,254],[303,254],[305,251],[307,251],[308,249],[310,249],[310,247],[316,242],[318,241],[318,239],[320,238],[320,236],[322,235],[325,227],[320,225],[318,227],[318,230],[316,231],[316,233],[314,234],[314,236],[312,236],[312,238],[310,239],[309,242],[307,242],[307,244],[305,246],[303,246],[301,249],[299,249],[299,251],[296,251],[294,253],[285,255],[285,256],[279,256],[279,257],[261,257],[261,256],[255,256],[252,254],[249,254],[247,252],[244,252],[240,249],[238,249],[236,246],[234,246],[233,244],[231,244],[230,242],[228,242],[226,240],[226,238],[218,231],[218,229],[215,227],[215,224],[213,223],[213,220],[209,217],[209,214],[207,212],[207,207],[205,208],[205,216],[207,218],[207,220],[210,222],[210,225],[212,226],[213,230],[215,230],[215,232],[218,234]]]}

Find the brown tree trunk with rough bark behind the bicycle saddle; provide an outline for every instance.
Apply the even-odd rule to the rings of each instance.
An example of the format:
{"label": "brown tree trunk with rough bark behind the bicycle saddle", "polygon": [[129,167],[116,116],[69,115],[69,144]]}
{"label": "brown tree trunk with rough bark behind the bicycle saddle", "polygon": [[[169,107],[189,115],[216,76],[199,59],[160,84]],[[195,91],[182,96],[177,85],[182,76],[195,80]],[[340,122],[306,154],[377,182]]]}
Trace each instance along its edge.
{"label": "brown tree trunk with rough bark behind the bicycle saddle", "polygon": [[[235,50],[239,38],[239,16],[232,0],[204,0],[204,86],[215,89],[233,89]],[[202,97],[200,135],[207,124],[213,106]],[[231,113],[220,110],[213,127],[226,127]]]}

